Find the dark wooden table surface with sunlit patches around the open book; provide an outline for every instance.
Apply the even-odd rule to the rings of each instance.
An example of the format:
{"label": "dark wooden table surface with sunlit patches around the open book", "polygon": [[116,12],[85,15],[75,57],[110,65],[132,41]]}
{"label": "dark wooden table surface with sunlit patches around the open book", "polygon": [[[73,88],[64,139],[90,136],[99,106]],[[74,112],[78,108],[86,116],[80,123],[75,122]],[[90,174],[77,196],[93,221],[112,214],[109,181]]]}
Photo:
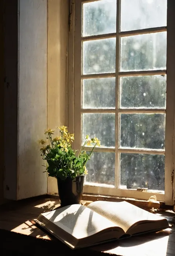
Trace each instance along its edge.
{"label": "dark wooden table surface with sunlit patches around the open book", "polygon": [[[82,201],[82,204],[88,205],[89,201]],[[34,225],[33,219],[37,218],[42,212],[51,211],[58,206],[58,199],[44,197],[24,199],[2,205],[0,206],[0,228],[36,238],[52,240],[54,238]],[[157,213],[165,216],[171,225],[175,223],[175,212],[158,210]],[[174,256],[175,228],[116,240],[115,242],[93,246],[90,249],[121,256]]]}

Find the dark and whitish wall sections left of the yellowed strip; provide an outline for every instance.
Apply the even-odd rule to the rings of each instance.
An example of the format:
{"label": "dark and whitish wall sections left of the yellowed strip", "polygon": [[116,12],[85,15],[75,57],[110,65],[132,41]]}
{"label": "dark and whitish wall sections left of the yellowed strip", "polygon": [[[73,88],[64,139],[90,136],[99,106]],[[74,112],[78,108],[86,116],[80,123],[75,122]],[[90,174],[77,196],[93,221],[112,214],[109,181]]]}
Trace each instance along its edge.
{"label": "dark and whitish wall sections left of the yellowed strip", "polygon": [[4,6],[4,197],[16,200],[47,194],[38,145],[47,127],[47,0]]}

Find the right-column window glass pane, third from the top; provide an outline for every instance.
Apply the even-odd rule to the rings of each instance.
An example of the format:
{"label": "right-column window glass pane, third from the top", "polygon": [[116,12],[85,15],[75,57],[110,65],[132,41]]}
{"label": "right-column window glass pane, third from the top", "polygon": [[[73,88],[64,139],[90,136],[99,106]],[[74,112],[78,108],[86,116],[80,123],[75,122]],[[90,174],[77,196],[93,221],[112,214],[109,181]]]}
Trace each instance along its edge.
{"label": "right-column window glass pane, third from the top", "polygon": [[126,76],[120,78],[121,108],[166,107],[166,76]]}

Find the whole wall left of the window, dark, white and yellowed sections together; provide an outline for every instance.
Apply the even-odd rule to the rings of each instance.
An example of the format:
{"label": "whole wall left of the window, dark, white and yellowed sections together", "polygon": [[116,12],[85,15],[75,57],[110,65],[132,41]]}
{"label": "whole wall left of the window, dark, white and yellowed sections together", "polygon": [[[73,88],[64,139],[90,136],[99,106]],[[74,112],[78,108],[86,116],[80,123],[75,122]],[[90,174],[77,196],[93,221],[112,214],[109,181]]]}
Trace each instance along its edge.
{"label": "whole wall left of the window, dark, white and yellowed sections together", "polygon": [[[6,8],[4,24],[3,2]],[[44,137],[47,127],[54,129],[67,125],[69,0],[4,0],[0,5],[0,62],[2,65],[1,34],[5,25],[4,69],[7,75],[4,84],[3,68],[0,68],[6,109],[4,114],[4,95],[1,93],[0,117],[5,117],[6,127],[5,175],[5,162],[3,154],[0,154],[1,204],[6,202],[4,196],[22,199],[46,194],[47,191],[52,194],[58,192],[56,180],[47,179],[47,174],[42,173],[44,167],[41,166],[43,161],[37,140]],[[0,122],[1,141],[3,127],[4,123]],[[10,153],[9,144],[13,144]],[[12,156],[10,160],[9,155]]]}

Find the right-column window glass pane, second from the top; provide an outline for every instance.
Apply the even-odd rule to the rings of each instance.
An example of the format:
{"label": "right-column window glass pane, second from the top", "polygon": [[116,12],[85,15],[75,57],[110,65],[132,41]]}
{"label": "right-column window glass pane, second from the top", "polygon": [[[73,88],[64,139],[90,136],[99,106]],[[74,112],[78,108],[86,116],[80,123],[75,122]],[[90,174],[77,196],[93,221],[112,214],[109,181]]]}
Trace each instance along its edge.
{"label": "right-column window glass pane, second from the top", "polygon": [[166,69],[167,32],[121,37],[120,71]]}

